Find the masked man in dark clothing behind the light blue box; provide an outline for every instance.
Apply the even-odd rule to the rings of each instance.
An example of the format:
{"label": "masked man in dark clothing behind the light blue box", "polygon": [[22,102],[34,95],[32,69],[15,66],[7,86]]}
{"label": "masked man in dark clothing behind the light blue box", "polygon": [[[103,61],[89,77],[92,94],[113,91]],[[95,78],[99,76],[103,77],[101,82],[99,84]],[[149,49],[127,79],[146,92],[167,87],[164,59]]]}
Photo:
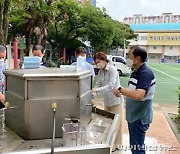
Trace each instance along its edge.
{"label": "masked man in dark clothing behind the light blue box", "polygon": [[44,47],[42,45],[35,45],[32,48],[33,56],[38,56],[41,59],[41,66],[50,67],[50,63],[44,59]]}

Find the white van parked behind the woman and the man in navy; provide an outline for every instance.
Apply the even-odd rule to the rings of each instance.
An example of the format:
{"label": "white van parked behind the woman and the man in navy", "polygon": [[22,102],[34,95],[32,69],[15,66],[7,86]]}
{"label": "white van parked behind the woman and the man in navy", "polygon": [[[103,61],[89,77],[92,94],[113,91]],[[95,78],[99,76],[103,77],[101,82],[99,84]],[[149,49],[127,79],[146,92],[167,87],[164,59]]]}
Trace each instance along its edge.
{"label": "white van parked behind the woman and the man in navy", "polygon": [[131,68],[126,65],[126,59],[124,57],[107,55],[107,59],[116,66],[120,75],[129,75],[131,73]]}

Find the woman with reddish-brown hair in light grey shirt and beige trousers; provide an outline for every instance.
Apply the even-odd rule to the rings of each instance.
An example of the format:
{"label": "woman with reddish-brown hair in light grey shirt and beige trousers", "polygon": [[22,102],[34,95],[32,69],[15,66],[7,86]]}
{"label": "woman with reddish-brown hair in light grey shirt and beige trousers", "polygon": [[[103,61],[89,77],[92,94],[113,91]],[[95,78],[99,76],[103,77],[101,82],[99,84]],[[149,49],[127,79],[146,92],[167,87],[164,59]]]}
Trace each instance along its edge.
{"label": "woman with reddish-brown hair in light grey shirt and beige trousers", "polygon": [[100,69],[94,89],[93,95],[101,95],[104,99],[104,107],[106,111],[119,115],[118,125],[116,128],[116,138],[112,151],[116,151],[122,145],[122,117],[123,117],[123,97],[116,97],[113,94],[113,88],[120,86],[119,73],[117,68],[109,63],[107,56],[103,52],[98,52],[94,56],[94,62]]}

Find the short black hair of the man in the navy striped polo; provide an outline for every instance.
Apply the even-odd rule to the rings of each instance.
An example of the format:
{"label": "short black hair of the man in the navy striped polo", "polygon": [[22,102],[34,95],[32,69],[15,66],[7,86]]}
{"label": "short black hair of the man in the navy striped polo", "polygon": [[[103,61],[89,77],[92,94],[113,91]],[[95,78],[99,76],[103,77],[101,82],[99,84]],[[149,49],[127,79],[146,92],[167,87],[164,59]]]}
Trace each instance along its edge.
{"label": "short black hair of the man in the navy striped polo", "polygon": [[147,52],[145,49],[137,47],[133,51],[134,57],[139,56],[141,58],[141,61],[144,63],[147,59]]}

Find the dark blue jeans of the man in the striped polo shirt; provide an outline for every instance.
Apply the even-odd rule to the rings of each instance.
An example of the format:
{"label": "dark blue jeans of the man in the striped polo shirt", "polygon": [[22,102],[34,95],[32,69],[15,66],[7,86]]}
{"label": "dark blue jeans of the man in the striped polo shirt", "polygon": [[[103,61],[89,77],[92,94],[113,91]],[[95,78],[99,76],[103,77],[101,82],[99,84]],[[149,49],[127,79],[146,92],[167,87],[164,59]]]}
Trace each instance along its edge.
{"label": "dark blue jeans of the man in the striped polo shirt", "polygon": [[128,123],[130,148],[133,154],[145,154],[145,135],[149,124],[142,124],[141,121]]}

